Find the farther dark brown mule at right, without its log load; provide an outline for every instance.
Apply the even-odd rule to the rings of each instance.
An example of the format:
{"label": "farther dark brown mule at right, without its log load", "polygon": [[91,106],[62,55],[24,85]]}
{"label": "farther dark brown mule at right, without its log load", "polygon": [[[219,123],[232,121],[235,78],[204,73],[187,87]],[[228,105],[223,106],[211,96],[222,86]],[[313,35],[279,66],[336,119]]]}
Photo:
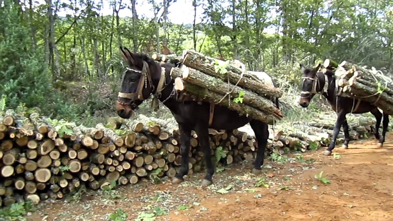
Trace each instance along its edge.
{"label": "farther dark brown mule at right, without its log load", "polygon": [[[341,96],[336,96],[336,81],[334,80],[334,72],[327,70],[324,74],[323,72],[318,72],[321,64],[316,68],[305,68],[303,64],[300,64],[300,70],[303,73],[303,85],[301,98],[299,101],[300,106],[308,107],[310,100],[315,94],[322,94],[327,101],[329,101],[332,109],[337,113],[337,121],[333,130],[333,138],[329,147],[323,153],[324,155],[331,155],[334,146],[336,145],[336,138],[340,127],[343,127],[344,131],[344,144],[342,147],[344,149],[348,148],[349,143],[349,131],[346,115],[348,113],[362,114],[371,112],[375,116],[375,138],[379,140],[377,147],[382,147],[385,142],[385,135],[387,131],[387,125],[389,124],[389,115],[383,112],[383,114],[377,109],[377,107],[366,101],[360,101],[359,99],[346,98]],[[383,130],[382,136],[379,135],[379,127],[383,117]]]}

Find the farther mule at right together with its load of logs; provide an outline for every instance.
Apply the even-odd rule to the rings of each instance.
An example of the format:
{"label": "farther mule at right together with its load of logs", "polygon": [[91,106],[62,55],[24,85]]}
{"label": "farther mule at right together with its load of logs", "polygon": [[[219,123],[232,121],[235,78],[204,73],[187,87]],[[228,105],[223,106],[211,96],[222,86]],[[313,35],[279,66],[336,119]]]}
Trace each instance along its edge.
{"label": "farther mule at right together with its load of logs", "polygon": [[[376,119],[374,135],[378,140],[377,147],[383,146],[389,115],[393,113],[393,103],[389,103],[392,98],[389,96],[388,88],[391,88],[390,78],[373,68],[360,68],[345,61],[337,64],[328,59],[325,60],[323,67],[318,64],[315,68],[305,68],[300,64],[300,70],[303,73],[303,83],[299,105],[308,107],[314,95],[322,94],[337,113],[332,141],[324,155],[331,155],[341,126],[345,136],[342,147],[348,148],[350,134],[346,115],[349,113],[371,112]],[[378,108],[382,109],[382,113]],[[382,136],[380,136],[379,128],[382,119]]]}

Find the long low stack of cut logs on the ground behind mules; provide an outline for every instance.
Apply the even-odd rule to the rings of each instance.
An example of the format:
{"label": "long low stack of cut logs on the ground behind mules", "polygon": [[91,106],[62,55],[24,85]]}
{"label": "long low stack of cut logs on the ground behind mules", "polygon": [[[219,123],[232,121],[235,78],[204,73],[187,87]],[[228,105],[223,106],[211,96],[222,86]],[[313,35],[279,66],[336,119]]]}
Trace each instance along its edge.
{"label": "long low stack of cut logs on the ground behind mules", "polygon": [[[315,129],[311,130],[314,134],[270,130],[266,155],[325,146],[329,134],[315,134]],[[252,135],[240,129],[210,129],[209,134],[216,166],[255,158],[257,144]],[[204,154],[194,132],[189,156],[189,174],[204,169]],[[181,158],[179,131],[170,119],[115,117],[105,125],[85,127],[37,112],[7,109],[0,114],[0,205],[61,199],[80,188],[103,189],[111,182],[136,184],[145,179],[157,183],[160,177],[176,174]]]}

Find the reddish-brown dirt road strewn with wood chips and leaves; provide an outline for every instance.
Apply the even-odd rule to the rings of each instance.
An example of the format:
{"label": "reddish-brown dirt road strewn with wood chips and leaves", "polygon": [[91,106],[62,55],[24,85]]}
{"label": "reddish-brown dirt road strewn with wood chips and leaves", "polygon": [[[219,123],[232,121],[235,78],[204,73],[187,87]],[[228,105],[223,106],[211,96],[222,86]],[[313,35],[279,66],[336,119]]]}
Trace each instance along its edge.
{"label": "reddish-brown dirt road strewn with wood chips and leaves", "polygon": [[201,173],[178,186],[121,186],[116,193],[75,197],[80,201],[48,202],[28,220],[110,220],[121,208],[125,220],[139,216],[140,221],[392,221],[393,133],[384,148],[375,144],[351,141],[347,150],[334,149],[335,156],[325,157],[319,149],[288,156],[285,163],[265,160],[258,177],[249,173],[250,163],[231,166],[218,171],[207,188],[199,186]]}

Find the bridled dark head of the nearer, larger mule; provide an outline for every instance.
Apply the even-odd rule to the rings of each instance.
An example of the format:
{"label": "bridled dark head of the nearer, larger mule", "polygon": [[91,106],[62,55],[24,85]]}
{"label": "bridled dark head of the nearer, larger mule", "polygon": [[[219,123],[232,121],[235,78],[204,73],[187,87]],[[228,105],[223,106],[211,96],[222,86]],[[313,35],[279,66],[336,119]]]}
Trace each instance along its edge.
{"label": "bridled dark head of the nearer, larger mule", "polygon": [[127,66],[121,80],[116,110],[121,118],[130,118],[133,110],[149,98],[154,86],[145,55],[131,53],[125,47],[120,47],[120,53]]}

